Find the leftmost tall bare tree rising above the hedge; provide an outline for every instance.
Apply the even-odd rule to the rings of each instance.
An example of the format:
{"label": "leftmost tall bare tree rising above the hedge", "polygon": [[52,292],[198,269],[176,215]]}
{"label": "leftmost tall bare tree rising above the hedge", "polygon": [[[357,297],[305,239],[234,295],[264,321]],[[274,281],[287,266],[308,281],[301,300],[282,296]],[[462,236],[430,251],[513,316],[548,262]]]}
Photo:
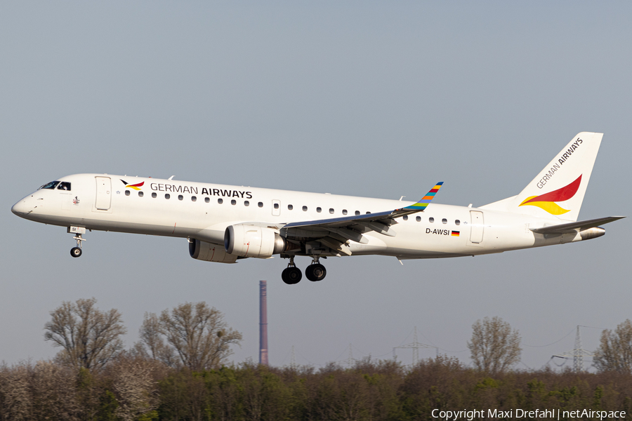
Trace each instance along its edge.
{"label": "leftmost tall bare tree rising above the hedge", "polygon": [[74,368],[100,370],[123,351],[126,333],[117,309],[101,312],[96,299],[65,301],[51,312],[44,338],[63,349],[56,358]]}

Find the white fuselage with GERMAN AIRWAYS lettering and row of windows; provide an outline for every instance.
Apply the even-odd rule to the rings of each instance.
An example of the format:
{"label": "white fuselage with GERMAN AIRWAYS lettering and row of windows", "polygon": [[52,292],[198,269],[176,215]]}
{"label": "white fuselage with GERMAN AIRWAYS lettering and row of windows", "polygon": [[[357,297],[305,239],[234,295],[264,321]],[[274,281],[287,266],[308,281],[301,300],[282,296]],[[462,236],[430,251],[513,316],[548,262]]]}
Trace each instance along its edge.
{"label": "white fuselage with GERMAN AIRWAYS lettering and row of windows", "polygon": [[[58,180],[70,183],[70,190],[38,189],[15,203],[13,213],[51,225],[176,236],[222,248],[230,225],[254,222],[278,231],[290,222],[377,213],[414,203],[104,174]],[[136,189],[126,187],[140,183]],[[423,212],[397,218],[392,227],[395,236],[368,232],[364,234],[367,243],[349,241],[348,246],[353,255],[415,259],[501,253],[581,240],[579,234],[545,236],[529,229],[559,223],[554,217],[430,203]]]}

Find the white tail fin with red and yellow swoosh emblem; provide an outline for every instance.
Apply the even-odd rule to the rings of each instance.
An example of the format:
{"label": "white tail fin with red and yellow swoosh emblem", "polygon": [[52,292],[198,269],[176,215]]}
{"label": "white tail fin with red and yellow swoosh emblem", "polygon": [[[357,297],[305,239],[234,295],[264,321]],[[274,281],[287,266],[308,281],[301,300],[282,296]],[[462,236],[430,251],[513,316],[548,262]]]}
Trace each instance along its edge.
{"label": "white tail fin with red and yellow swoosh emblem", "polygon": [[481,208],[577,221],[603,133],[578,133],[527,187]]}

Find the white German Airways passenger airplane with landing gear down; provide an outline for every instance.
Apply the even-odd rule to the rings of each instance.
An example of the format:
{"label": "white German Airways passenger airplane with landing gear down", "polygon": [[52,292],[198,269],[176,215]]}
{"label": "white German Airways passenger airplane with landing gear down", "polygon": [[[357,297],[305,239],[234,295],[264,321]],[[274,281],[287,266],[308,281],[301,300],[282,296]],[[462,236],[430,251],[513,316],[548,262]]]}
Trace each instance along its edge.
{"label": "white German Airways passenger airplane with landing gear down", "polygon": [[[582,132],[516,196],[485,206],[433,201],[437,182],[416,202],[216,185],[127,175],[75,174],[15,203],[15,215],[66,227],[81,256],[86,231],[182,237],[207,262],[289,259],[288,284],[301,281],[296,256],[321,281],[332,256],[456,258],[594,239],[623,216],[577,221],[603,133]],[[403,263],[402,263],[403,264]]]}

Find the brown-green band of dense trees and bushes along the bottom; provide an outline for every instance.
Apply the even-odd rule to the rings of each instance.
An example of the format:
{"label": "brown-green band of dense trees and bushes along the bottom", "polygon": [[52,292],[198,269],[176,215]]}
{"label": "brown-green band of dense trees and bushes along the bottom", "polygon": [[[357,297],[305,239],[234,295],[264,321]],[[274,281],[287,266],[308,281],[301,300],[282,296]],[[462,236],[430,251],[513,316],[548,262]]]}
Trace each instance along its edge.
{"label": "brown-green band of dense trees and bushes along the bottom", "polygon": [[437,356],[416,366],[172,368],[125,352],[91,372],[55,361],[0,367],[0,420],[437,420],[433,409],[626,411],[632,375],[513,371],[486,375]]}

